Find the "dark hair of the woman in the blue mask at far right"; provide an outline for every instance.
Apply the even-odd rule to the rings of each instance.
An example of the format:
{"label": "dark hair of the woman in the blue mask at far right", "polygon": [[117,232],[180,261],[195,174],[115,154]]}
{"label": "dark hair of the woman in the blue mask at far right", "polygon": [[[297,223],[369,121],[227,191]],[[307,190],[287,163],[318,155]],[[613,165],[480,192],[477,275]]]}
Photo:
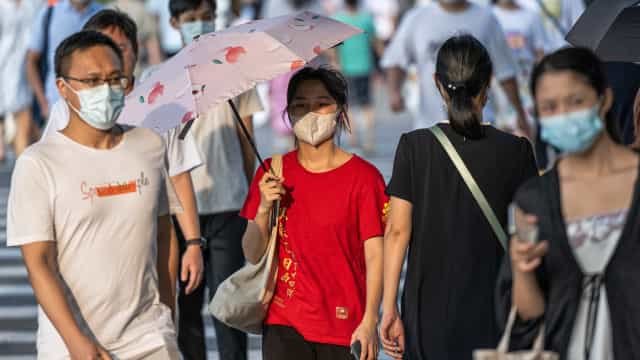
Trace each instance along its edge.
{"label": "dark hair of the woman in the blue mask at far right", "polygon": [[[581,47],[567,47],[545,56],[533,68],[530,87],[534,99],[540,78],[546,73],[559,71],[571,71],[580,75],[596,91],[598,96],[604,96],[609,88],[604,65],[593,51]],[[536,105],[536,114],[537,112]],[[609,111],[603,120],[611,138],[615,142],[621,143],[620,128],[613,111]]]}

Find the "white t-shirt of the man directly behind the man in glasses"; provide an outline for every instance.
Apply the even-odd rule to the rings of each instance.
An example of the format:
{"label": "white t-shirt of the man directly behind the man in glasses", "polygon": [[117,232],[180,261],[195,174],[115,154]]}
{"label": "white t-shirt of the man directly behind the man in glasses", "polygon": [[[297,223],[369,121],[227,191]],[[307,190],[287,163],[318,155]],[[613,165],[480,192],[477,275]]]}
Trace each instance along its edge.
{"label": "white t-shirt of the man directly behind the man in glasses", "polygon": [[[58,100],[51,108],[49,120],[41,139],[57,133],[69,124],[69,106],[64,100]],[[191,132],[187,132],[184,140],[180,140],[182,126],[162,134],[167,145],[167,168],[169,176],[176,176],[191,171],[202,165],[202,159]]]}

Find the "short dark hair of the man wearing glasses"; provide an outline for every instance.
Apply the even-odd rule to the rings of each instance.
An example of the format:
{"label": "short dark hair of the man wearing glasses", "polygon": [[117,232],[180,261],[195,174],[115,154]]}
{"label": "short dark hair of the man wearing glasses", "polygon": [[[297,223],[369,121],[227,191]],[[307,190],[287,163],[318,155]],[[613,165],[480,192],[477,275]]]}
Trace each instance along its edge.
{"label": "short dark hair of the man wearing glasses", "polygon": [[123,63],[122,51],[110,37],[97,31],[83,30],[64,39],[56,48],[54,60],[56,77],[64,77],[67,75],[71,55],[73,55],[74,52],[87,50],[95,46],[106,46],[110,48],[118,56],[120,64]]}

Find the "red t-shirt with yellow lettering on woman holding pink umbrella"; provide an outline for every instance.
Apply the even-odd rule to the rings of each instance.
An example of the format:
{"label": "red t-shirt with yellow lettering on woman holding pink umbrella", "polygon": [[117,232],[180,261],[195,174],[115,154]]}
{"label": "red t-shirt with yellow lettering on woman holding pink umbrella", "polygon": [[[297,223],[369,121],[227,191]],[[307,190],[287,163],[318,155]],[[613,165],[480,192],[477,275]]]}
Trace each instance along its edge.
{"label": "red t-shirt with yellow lettering on woman holding pink umbrella", "polygon": [[[267,161],[270,164],[270,160]],[[283,157],[287,194],[278,237],[278,282],[266,323],[295,328],[307,341],[349,346],[366,306],[364,242],[383,236],[388,207],[380,172],[358,156],[324,173]],[[260,205],[258,169],[241,216]]]}

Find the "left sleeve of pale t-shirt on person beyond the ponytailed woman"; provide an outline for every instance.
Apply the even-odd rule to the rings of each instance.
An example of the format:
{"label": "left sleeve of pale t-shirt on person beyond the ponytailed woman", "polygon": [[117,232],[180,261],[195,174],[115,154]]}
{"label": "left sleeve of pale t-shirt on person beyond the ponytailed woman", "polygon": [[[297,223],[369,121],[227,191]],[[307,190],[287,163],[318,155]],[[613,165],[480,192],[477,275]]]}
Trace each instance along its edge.
{"label": "left sleeve of pale t-shirt on person beyond the ponytailed woman", "polygon": [[409,13],[400,23],[396,34],[393,36],[391,43],[385,50],[382,60],[380,61],[380,65],[383,68],[398,66],[406,69],[416,61],[413,46],[413,35],[416,31],[416,29],[414,29],[414,19],[416,16],[417,12]]}

